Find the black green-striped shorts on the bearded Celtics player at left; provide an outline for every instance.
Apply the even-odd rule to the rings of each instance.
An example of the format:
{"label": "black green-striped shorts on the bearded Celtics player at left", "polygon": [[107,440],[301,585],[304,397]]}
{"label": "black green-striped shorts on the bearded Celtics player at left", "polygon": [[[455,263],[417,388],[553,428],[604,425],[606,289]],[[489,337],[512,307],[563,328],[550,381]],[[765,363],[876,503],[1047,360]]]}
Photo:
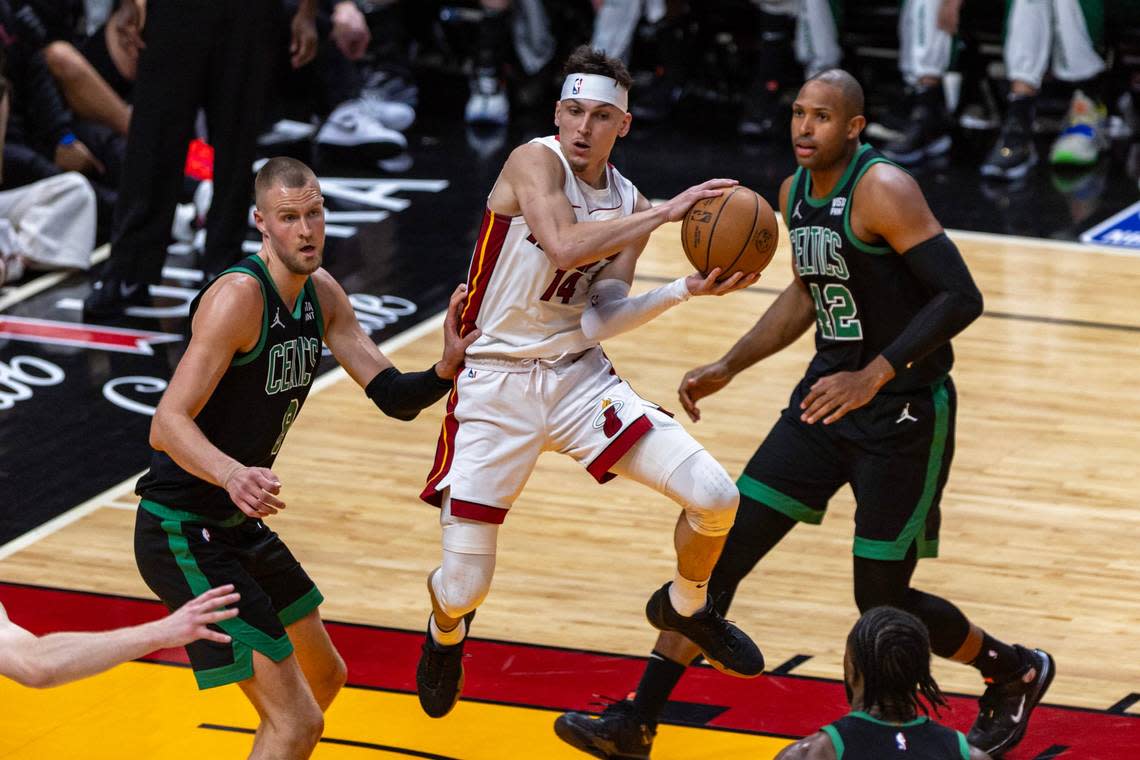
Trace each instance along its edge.
{"label": "black green-striped shorts on the bearded Celtics player at left", "polygon": [[293,645],[285,627],[324,600],[277,533],[241,513],[219,523],[144,499],[135,520],[135,561],[171,611],[223,583],[241,593],[238,615],[211,626],[233,640],[186,647],[198,688],[253,676],[254,649],[275,662],[287,657]]}

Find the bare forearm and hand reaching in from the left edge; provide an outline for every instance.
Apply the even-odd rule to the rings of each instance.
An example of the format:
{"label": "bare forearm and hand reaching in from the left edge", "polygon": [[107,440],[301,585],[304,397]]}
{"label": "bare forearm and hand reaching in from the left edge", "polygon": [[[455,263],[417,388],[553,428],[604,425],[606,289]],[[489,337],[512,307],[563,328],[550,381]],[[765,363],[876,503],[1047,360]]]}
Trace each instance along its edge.
{"label": "bare forearm and hand reaching in from the left edge", "polygon": [[8,620],[0,606],[0,675],[33,688],[58,686],[136,660],[155,649],[197,639],[228,643],[209,628],[237,615],[227,607],[239,598],[230,585],[187,602],[161,620],[111,631],[48,634],[36,637]]}

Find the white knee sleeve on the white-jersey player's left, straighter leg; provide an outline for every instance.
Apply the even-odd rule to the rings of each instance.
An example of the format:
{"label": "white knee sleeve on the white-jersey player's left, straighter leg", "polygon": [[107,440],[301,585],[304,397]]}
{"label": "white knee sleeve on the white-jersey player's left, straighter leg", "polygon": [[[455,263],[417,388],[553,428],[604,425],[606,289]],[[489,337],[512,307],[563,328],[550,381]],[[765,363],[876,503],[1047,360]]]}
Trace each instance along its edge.
{"label": "white knee sleeve on the white-jersey player's left, straighter leg", "polygon": [[449,618],[462,618],[487,598],[495,574],[498,525],[451,514],[450,493],[443,497],[443,562],[432,575],[432,594]]}

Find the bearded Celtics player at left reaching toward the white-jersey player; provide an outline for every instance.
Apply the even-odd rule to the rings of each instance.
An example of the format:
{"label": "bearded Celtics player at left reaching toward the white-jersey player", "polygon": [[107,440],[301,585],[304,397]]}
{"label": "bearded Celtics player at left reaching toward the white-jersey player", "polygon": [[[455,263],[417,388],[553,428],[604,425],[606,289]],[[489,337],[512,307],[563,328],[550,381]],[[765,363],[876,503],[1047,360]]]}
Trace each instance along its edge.
{"label": "bearded Celtics player at left reaching toward the white-jersey player", "polygon": [[187,646],[199,688],[236,683],[261,725],[251,758],[308,758],[345,669],[320,621],[320,591],[264,520],[285,508],[271,469],[320,361],[321,343],[385,414],[412,419],[450,390],[474,335],[461,338],[451,295],[443,357],[400,373],[320,268],[325,216],[312,171],[272,158],[254,181],[261,250],[190,305],[190,337],[150,427],[138,483],[135,556],[171,608],[212,586],[241,594],[218,623],[227,641]]}

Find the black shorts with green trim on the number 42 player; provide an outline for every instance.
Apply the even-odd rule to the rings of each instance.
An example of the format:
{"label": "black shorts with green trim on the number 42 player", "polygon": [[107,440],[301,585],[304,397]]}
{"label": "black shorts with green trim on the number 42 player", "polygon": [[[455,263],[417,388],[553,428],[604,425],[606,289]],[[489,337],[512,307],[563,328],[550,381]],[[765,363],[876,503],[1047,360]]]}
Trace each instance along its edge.
{"label": "black shorts with green trim on the number 42 player", "polygon": [[939,504],[954,457],[954,384],[885,393],[831,425],[800,422],[801,383],[736,481],[741,496],[805,523],[845,483],[855,493],[856,556],[938,556]]}

